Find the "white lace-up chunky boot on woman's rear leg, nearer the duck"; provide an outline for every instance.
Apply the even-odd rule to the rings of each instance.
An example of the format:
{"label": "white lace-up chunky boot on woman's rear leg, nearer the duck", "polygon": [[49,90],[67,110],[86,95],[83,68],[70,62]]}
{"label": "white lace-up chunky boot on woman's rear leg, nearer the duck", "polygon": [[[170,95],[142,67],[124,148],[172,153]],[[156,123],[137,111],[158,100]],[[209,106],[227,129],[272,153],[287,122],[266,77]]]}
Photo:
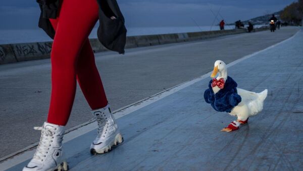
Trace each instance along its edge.
{"label": "white lace-up chunky boot on woman's rear leg, nearer the duck", "polygon": [[98,123],[98,135],[90,145],[91,154],[107,153],[112,149],[112,146],[123,142],[116,119],[109,105],[93,110],[91,113]]}

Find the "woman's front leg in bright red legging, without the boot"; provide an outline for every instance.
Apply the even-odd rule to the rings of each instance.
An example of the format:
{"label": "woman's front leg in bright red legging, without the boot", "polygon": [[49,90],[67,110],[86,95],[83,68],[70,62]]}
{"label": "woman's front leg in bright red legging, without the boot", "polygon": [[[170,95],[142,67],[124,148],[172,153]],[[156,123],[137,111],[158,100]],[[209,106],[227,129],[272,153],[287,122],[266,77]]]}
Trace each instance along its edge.
{"label": "woman's front leg in bright red legging, without the boot", "polygon": [[97,19],[98,5],[95,0],[64,0],[59,17],[51,20],[56,35],[51,52],[49,123],[66,125],[68,121],[76,91],[78,56]]}

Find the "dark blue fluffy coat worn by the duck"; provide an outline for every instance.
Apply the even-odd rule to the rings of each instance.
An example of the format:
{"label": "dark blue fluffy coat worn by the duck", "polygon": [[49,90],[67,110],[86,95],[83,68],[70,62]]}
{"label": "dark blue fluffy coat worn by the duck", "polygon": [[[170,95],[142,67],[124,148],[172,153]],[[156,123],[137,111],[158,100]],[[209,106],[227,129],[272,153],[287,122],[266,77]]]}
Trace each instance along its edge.
{"label": "dark blue fluffy coat worn by the duck", "polygon": [[209,83],[209,89],[204,92],[205,101],[210,103],[216,111],[231,112],[241,102],[241,96],[237,93],[237,83],[228,76],[224,88],[215,94],[212,89],[212,82],[213,80]]}

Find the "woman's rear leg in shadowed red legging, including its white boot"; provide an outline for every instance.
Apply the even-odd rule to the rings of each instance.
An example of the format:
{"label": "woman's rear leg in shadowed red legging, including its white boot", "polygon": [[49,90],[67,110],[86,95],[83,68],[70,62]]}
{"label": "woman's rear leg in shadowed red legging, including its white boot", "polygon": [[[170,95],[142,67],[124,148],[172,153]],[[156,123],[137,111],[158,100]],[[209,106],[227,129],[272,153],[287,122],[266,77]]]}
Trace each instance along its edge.
{"label": "woman's rear leg in shadowed red legging, including its white boot", "polygon": [[88,38],[80,52],[76,71],[82,92],[93,109],[91,113],[98,124],[98,135],[90,145],[90,152],[106,153],[113,145],[122,143],[123,138],[108,105]]}

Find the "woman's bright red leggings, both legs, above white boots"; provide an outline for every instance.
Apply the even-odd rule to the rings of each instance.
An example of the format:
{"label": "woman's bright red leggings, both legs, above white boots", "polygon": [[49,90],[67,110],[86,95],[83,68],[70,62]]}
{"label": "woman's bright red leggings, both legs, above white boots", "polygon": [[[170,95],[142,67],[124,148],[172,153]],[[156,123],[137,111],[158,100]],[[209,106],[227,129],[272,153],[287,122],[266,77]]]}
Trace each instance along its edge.
{"label": "woman's bright red leggings, both legs, above white boots", "polygon": [[108,104],[88,40],[97,19],[96,0],[63,0],[58,18],[50,19],[56,35],[51,52],[49,123],[66,125],[74,103],[76,79],[91,109]]}

